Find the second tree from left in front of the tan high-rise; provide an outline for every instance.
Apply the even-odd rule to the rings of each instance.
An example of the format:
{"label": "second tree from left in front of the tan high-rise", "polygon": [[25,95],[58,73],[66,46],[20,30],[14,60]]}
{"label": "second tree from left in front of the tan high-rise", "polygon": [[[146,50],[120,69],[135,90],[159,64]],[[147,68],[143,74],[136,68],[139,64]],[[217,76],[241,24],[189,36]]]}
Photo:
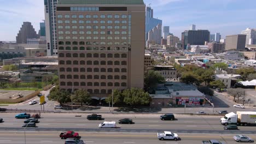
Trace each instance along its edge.
{"label": "second tree from left in front of the tan high-rise", "polygon": [[91,103],[91,96],[86,90],[78,89],[74,92],[73,101],[80,102],[83,106],[83,103]]}

